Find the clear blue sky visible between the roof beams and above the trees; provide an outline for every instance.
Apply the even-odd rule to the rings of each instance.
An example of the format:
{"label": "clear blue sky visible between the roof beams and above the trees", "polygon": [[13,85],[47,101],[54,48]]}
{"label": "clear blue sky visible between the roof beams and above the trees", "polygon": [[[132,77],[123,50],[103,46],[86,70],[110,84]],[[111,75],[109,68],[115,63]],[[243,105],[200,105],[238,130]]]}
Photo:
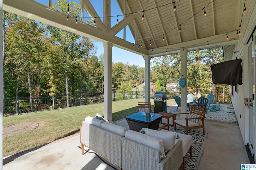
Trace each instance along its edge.
{"label": "clear blue sky visible between the roof beams and above the trees", "polygon": [[[48,0],[35,0],[36,2],[39,2],[41,4],[48,5]],[[56,3],[57,0],[52,0],[52,3]],[[68,0],[67,0],[68,2]],[[79,0],[69,0],[69,2],[77,2],[80,4]],[[98,13],[99,17],[103,16],[103,0],[90,0],[92,6],[94,6],[94,9]],[[120,10],[120,7],[118,6],[116,0],[111,0],[111,16],[119,16],[118,20],[121,21],[123,19],[122,12]],[[84,20],[88,20],[89,16],[84,11]],[[100,18],[103,21],[103,18]],[[111,27],[113,27],[116,24],[117,17],[111,17]],[[116,34],[117,37],[122,38],[123,37],[123,30]],[[128,26],[126,26],[126,41],[129,41],[131,43],[134,43],[134,38],[132,34],[130,33],[130,29]],[[95,45],[97,46],[97,53],[96,55],[99,56],[100,54],[104,53],[104,47],[103,43],[99,41],[95,41]],[[127,62],[130,65],[139,65],[140,67],[145,67],[145,61],[141,55],[137,55],[135,53],[131,53],[129,51],[119,49],[117,47],[112,47],[112,61],[114,63],[122,62],[126,64]]]}

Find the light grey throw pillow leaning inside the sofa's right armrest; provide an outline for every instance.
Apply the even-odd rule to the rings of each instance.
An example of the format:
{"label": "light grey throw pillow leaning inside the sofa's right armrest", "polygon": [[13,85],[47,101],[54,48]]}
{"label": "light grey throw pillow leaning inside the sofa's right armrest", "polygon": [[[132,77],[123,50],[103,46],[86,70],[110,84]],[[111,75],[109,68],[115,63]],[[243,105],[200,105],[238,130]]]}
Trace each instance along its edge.
{"label": "light grey throw pillow leaning inside the sofa's right armrest", "polygon": [[143,127],[140,130],[140,133],[144,133],[146,135],[149,135],[151,137],[155,137],[157,139],[162,139],[163,145],[164,145],[164,151],[168,151],[172,149],[175,145],[175,138],[179,138],[177,132],[171,132],[171,131],[157,131],[153,129],[148,129],[146,127]]}

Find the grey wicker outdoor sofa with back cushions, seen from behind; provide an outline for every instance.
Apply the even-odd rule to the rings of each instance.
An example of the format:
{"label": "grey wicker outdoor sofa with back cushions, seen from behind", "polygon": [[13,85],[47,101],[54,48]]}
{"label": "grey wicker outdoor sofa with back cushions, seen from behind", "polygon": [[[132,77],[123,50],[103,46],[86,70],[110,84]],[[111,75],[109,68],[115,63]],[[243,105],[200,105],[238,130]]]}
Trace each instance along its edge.
{"label": "grey wicker outdoor sofa with back cushions, seen from behind", "polygon": [[[131,139],[135,136],[140,137],[142,143],[138,142],[138,138]],[[162,141],[92,117],[86,117],[80,128],[82,154],[86,146],[120,170],[178,170],[181,168],[182,140],[178,140],[167,153],[164,152],[165,156],[163,156],[163,148],[161,150],[159,146],[153,146],[158,145],[158,140]],[[156,144],[152,144],[152,141],[156,141]]]}

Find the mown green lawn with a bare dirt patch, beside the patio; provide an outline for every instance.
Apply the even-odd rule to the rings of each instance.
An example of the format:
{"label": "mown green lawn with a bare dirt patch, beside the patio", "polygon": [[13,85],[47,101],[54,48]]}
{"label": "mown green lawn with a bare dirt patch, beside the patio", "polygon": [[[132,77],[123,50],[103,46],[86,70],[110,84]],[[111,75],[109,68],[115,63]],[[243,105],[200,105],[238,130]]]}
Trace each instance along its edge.
{"label": "mown green lawn with a bare dirt patch, beside the patio", "polygon": [[[112,120],[116,121],[126,115],[135,113],[138,102],[144,102],[144,99],[112,102]],[[154,108],[154,100],[151,99],[150,102],[152,108]],[[167,106],[173,104],[175,104],[174,100],[167,101]],[[78,133],[85,117],[95,117],[96,113],[104,115],[103,110],[104,104],[95,104],[3,117],[4,128],[14,125],[20,127],[19,133],[3,138],[3,156],[16,154]],[[38,124],[39,126],[38,128],[22,131],[24,124]]]}

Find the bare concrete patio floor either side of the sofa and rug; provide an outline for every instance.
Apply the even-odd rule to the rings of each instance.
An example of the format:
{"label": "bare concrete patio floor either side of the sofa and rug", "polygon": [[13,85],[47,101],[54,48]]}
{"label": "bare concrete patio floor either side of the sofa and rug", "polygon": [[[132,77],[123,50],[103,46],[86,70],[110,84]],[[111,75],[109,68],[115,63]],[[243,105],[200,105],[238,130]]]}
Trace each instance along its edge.
{"label": "bare concrete patio floor either side of the sofa and rug", "polygon": [[[125,125],[125,121],[115,122]],[[205,120],[208,139],[198,170],[240,169],[249,164],[238,125]],[[200,129],[198,129],[200,131]],[[75,134],[26,154],[4,158],[4,170],[114,170],[94,153],[81,154],[80,136]]]}

